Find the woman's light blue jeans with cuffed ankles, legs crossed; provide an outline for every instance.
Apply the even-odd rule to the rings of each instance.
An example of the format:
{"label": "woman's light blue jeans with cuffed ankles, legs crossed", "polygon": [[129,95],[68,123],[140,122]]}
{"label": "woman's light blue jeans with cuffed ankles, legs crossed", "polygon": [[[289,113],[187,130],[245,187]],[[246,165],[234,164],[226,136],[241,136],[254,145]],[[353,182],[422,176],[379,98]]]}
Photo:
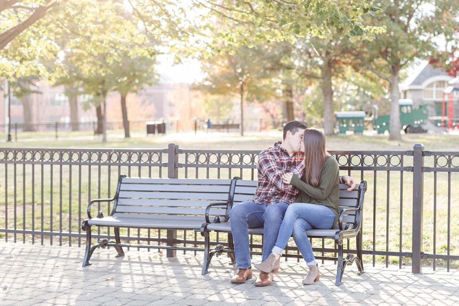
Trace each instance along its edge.
{"label": "woman's light blue jeans with cuffed ankles, legs crossed", "polygon": [[309,203],[290,204],[280,225],[274,253],[282,254],[293,232],[293,239],[306,262],[314,261],[314,254],[306,230],[329,229],[335,224],[335,214],[325,205]]}

